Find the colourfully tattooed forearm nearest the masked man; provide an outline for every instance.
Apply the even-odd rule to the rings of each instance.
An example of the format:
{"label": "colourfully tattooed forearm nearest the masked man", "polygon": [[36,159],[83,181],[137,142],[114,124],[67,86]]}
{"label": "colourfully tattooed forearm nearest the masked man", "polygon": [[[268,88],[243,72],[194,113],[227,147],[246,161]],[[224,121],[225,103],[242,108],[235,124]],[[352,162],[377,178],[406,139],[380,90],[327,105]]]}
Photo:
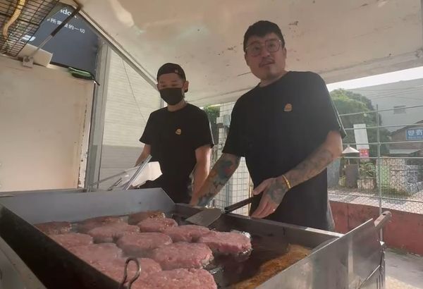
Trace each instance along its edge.
{"label": "colourfully tattooed forearm nearest the masked man", "polygon": [[222,154],[214,164],[212,171],[202,185],[201,189],[192,195],[190,204],[193,206],[206,206],[221,188],[228,182],[240,164],[240,157],[233,154]]}

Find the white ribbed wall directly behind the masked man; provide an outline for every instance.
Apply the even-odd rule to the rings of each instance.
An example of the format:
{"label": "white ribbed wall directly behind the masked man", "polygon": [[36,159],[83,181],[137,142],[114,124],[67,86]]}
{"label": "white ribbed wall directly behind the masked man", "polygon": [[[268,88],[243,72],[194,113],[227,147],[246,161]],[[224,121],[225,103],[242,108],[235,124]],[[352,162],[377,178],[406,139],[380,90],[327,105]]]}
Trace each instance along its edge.
{"label": "white ribbed wall directly behind the masked man", "polygon": [[[116,53],[111,54],[100,179],[135,164],[142,152],[138,141],[149,113],[160,108],[159,93]],[[111,182],[101,184],[106,187]]]}

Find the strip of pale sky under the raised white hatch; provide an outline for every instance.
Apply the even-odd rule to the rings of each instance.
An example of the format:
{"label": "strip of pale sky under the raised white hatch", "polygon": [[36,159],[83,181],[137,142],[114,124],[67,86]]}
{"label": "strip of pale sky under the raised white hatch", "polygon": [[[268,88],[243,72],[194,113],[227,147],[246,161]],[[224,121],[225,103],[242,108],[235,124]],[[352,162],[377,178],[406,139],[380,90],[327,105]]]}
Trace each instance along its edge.
{"label": "strip of pale sky under the raised white hatch", "polygon": [[354,80],[330,83],[329,85],[327,85],[327,87],[329,91],[337,90],[338,88],[348,90],[358,87],[383,85],[386,83],[398,82],[401,80],[413,80],[417,78],[423,78],[423,66],[405,70],[398,70],[393,73],[384,73],[379,75],[368,76],[366,78],[357,78]]}

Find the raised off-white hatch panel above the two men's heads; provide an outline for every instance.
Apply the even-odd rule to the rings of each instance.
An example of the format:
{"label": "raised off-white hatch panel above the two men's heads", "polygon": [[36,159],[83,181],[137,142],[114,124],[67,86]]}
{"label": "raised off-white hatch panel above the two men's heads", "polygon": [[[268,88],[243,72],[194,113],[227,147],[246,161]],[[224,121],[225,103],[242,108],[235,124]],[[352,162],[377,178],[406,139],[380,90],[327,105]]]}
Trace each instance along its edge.
{"label": "raised off-white hatch panel above the two men's heads", "polygon": [[[74,4],[73,0],[62,0]],[[82,16],[150,84],[167,61],[190,80],[197,105],[229,102],[257,84],[243,34],[257,20],[280,25],[288,69],[336,82],[422,65],[419,0],[78,0]]]}

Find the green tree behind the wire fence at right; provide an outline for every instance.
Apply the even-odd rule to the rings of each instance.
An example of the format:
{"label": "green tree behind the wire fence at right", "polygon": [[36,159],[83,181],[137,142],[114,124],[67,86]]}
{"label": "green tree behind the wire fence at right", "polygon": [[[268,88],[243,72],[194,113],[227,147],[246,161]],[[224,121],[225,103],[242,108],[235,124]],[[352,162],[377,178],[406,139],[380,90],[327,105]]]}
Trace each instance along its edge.
{"label": "green tree behind the wire fence at right", "polygon": [[[348,90],[333,90],[331,92],[331,98],[333,104],[339,114],[346,113],[358,113],[366,111],[374,111],[372,101],[361,94],[350,92]],[[357,123],[365,123],[367,127],[376,126],[376,113],[360,113],[352,116],[341,116],[344,128],[353,128],[353,125]],[[382,119],[379,114],[379,124],[382,125]],[[390,133],[385,128],[380,129],[380,140],[381,142],[388,142],[390,140]],[[376,128],[367,129],[367,137],[369,142],[377,142],[377,130]],[[355,136],[353,130],[347,130],[347,137],[343,140],[345,143],[355,143]],[[370,144],[369,154],[370,156],[377,156],[377,145]],[[386,144],[381,145],[381,154],[389,152]]]}

